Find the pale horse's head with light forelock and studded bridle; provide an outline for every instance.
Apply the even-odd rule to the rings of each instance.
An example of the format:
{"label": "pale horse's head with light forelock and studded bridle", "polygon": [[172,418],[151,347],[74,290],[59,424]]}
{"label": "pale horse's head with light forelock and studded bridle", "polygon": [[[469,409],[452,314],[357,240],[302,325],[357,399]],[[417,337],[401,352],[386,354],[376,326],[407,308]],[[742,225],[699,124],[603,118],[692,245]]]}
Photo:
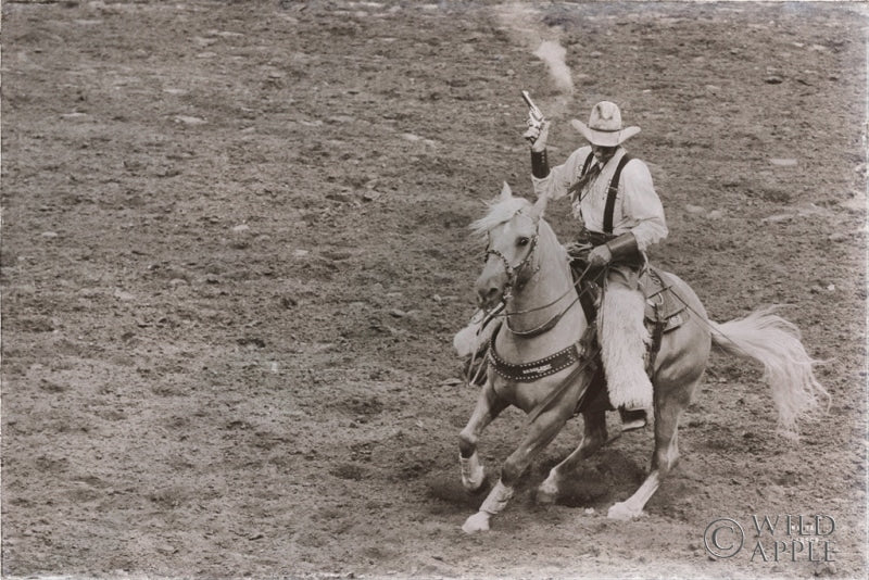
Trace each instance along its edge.
{"label": "pale horse's head with light forelock and studded bridle", "polygon": [[486,265],[476,283],[480,307],[489,310],[508,299],[540,268],[534,250],[545,207],[545,197],[532,205],[526,199],[514,198],[509,186],[504,184],[489,214],[471,225],[488,239]]}

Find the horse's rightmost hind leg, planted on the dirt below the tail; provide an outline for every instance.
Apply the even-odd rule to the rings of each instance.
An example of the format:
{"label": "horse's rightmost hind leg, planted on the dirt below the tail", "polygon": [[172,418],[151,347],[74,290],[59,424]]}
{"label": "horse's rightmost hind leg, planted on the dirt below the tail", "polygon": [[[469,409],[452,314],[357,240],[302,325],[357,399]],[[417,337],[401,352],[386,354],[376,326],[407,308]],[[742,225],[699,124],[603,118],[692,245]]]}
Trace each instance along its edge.
{"label": "horse's rightmost hind leg, planted on the dirt below the tail", "polygon": [[610,519],[632,519],[643,514],[643,507],[660,486],[660,482],[679,463],[679,417],[688,406],[690,393],[696,386],[677,388],[655,401],[655,452],[652,455],[652,471],[642,486],[625,502],[614,504],[606,516]]}

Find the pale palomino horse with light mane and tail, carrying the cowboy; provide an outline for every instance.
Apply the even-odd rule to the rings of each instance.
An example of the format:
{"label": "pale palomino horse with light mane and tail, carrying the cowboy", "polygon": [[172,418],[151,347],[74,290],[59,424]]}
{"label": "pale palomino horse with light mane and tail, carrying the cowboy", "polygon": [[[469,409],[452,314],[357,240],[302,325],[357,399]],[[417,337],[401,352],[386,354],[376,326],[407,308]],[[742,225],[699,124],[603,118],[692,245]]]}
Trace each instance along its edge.
{"label": "pale palomino horse with light mane and tail, carrying the cowboy", "polygon": [[[462,483],[471,493],[486,484],[486,470],[477,443],[486,427],[509,405],[527,414],[526,432],[518,447],[503,462],[501,477],[479,510],[467,518],[467,533],[490,529],[492,516],[502,512],[525,470],[576,414],[583,418],[579,446],[554,466],[537,490],[537,500],[552,503],[563,482],[580,463],[604,446],[606,412],[613,411],[605,389],[585,396],[596,371],[588,337],[594,333],[578,302],[570,257],[543,218],[547,198],[536,203],[514,197],[505,182],[490,202],[488,214],[471,229],[488,238],[484,266],[476,281],[483,312],[503,319],[489,348],[488,373],[474,412],[459,433]],[[795,325],[761,308],[746,317],[718,324],[710,320],[697,295],[676,275],[665,273],[673,293],[692,314],[684,324],[660,337],[651,378],[654,391],[654,438],[651,470],[628,500],[609,507],[607,517],[628,520],[643,514],[646,502],[679,461],[679,418],[701,383],[711,345],[764,366],[772,392],[780,431],[795,436],[796,423],[829,393],[819,383],[811,358]],[[584,337],[579,341],[578,338]],[[458,338],[458,336],[456,337]],[[514,376],[494,365],[506,362]],[[600,369],[597,370],[600,371]]]}

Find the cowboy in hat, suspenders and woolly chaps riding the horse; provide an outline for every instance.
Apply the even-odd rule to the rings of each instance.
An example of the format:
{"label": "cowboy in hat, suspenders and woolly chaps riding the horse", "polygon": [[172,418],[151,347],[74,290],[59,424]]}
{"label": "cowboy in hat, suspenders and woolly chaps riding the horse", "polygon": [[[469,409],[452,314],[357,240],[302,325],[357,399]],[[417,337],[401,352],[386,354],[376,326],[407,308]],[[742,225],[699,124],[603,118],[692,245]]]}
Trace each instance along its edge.
{"label": "cowboy in hat, suspenders and woolly chaps riding the horse", "polygon": [[569,196],[574,216],[582,227],[578,243],[569,250],[584,247],[589,266],[603,268],[597,336],[609,400],[621,413],[622,429],[639,429],[646,425],[653,403],[644,364],[650,337],[643,323],[645,299],[639,278],[646,249],[667,236],[664,207],[648,167],[628,156],[622,147],[640,127],[622,127],[615,103],[595,104],[588,125],[577,119],[571,124],[590,146],[552,168],[546,159],[550,123],[528,129],[531,180],[538,197]]}

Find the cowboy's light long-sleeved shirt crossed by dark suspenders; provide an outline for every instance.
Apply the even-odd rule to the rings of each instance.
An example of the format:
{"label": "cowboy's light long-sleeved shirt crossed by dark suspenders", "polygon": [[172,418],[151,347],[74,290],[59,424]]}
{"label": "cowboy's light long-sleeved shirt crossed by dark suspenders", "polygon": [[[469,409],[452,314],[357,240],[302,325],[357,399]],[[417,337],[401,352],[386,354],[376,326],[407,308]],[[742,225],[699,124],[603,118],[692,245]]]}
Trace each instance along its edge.
{"label": "cowboy's light long-sleeved shirt crossed by dark suspenders", "polygon": [[[537,197],[545,194],[557,200],[567,196],[570,186],[579,180],[589,153],[591,147],[582,147],[574,151],[564,164],[553,167],[546,177],[531,176]],[[619,147],[601,174],[571,200],[574,216],[590,231],[604,231],[604,207],[609,181],[616,173],[619,160],[626,153]],[[597,162],[592,160],[592,164],[594,163]],[[667,237],[664,206],[652,184],[652,174],[646,164],[638,159],[630,160],[621,169],[613,211],[613,235],[620,236],[628,231],[637,238],[637,247],[641,252]]]}

